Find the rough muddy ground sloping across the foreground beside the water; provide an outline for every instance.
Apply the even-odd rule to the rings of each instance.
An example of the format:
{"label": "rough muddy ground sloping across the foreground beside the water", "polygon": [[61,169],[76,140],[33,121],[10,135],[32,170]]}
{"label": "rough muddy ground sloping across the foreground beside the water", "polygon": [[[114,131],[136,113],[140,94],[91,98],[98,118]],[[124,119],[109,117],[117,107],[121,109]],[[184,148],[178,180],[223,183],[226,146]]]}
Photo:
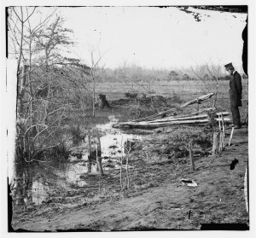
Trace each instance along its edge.
{"label": "rough muddy ground sloping across the foreground beside the water", "polygon": [[[70,188],[58,200],[52,198],[42,205],[28,206],[26,211],[15,209],[12,227],[32,231],[190,230],[204,229],[205,223],[230,223],[231,229],[247,229],[245,126],[235,130],[230,147],[230,129],[227,130],[221,154],[195,157],[193,172],[188,157],[170,160],[166,154],[159,153],[154,158],[147,153],[152,148],[160,151],[170,133],[166,129],[153,131],[131,152],[129,189],[120,189],[119,170],[105,171],[103,177],[85,174],[86,188]],[[238,163],[230,170],[235,158]],[[193,179],[198,186],[183,186],[183,178]]]}

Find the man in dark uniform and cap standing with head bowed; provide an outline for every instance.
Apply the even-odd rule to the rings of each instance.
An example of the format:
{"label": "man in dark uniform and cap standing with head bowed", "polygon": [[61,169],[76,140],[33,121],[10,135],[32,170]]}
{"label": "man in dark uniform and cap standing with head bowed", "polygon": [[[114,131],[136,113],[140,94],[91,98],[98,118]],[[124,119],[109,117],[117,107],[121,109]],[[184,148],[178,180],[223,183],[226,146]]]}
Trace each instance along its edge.
{"label": "man in dark uniform and cap standing with head bowed", "polygon": [[226,71],[231,75],[230,78],[230,108],[233,116],[233,124],[235,125],[235,129],[241,128],[241,119],[239,108],[241,107],[241,76],[232,63],[229,63],[224,66]]}

